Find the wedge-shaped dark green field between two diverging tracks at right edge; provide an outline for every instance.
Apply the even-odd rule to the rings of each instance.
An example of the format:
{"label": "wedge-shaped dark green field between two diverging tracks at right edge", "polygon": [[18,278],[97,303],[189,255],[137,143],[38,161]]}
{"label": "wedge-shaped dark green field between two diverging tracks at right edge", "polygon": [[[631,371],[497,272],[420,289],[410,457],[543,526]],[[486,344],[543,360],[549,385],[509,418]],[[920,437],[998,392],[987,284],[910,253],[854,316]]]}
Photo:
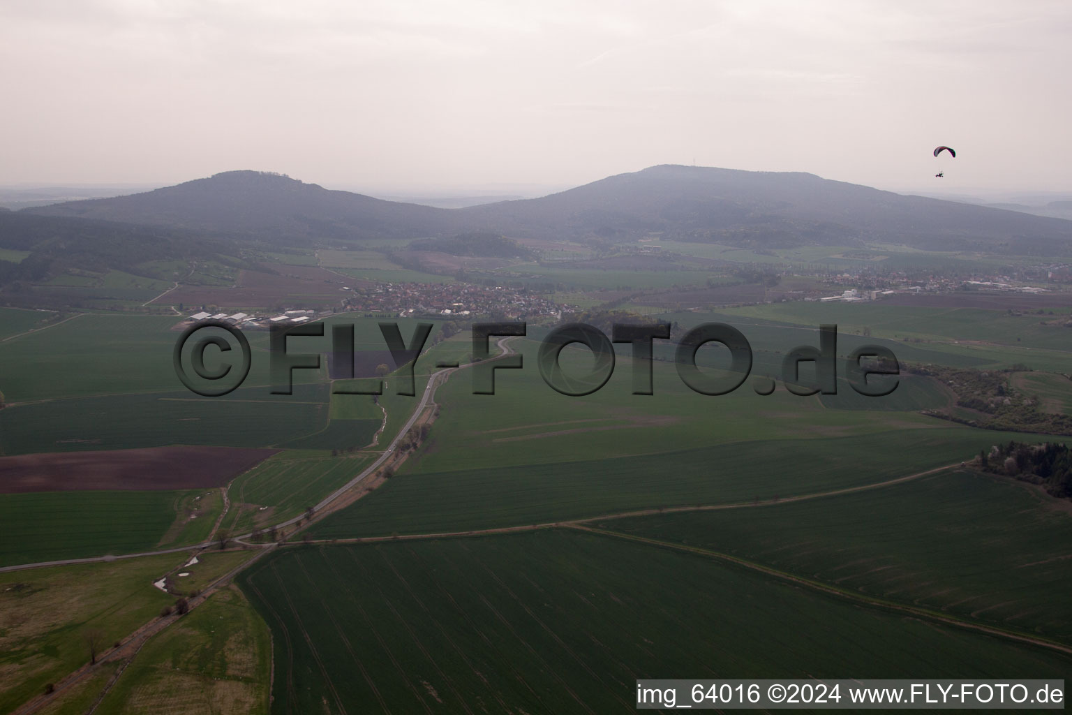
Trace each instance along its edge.
{"label": "wedge-shaped dark green field between two diverging tracks at right edge", "polygon": [[599,525],[1072,643],[1072,510],[1011,479],[957,470],[804,502]]}

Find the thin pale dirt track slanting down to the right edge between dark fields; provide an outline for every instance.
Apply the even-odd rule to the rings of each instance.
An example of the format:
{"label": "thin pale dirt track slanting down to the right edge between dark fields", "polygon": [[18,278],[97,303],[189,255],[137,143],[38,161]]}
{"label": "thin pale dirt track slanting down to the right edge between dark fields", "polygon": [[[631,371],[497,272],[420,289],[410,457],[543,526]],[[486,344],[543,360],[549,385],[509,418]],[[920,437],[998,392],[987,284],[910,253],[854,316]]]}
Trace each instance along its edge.
{"label": "thin pale dirt track slanting down to the right edge between dark fields", "polygon": [[917,616],[917,617],[920,617],[920,619],[926,619],[926,620],[929,620],[929,621],[935,621],[935,622],[938,622],[938,623],[943,623],[943,624],[947,624],[947,625],[956,626],[958,628],[964,628],[964,629],[969,629],[969,630],[978,630],[978,631],[981,631],[981,632],[984,632],[984,634],[987,634],[987,635],[991,635],[991,636],[1000,636],[1002,638],[1007,638],[1007,639],[1010,639],[1010,640],[1015,640],[1015,641],[1019,641],[1019,642],[1024,642],[1024,643],[1029,643],[1031,645],[1039,645],[1039,646],[1046,647],[1046,649],[1049,649],[1049,650],[1053,650],[1053,651],[1057,651],[1059,653],[1064,653],[1067,655],[1072,655],[1072,646],[1066,645],[1066,644],[1063,644],[1061,642],[1058,642],[1058,641],[1053,641],[1053,640],[1049,640],[1049,639],[1046,639],[1046,638],[1042,638],[1040,636],[1029,636],[1027,634],[1024,634],[1024,632],[1021,632],[1021,631],[1017,631],[1017,630],[1013,630],[1013,629],[1006,629],[1006,628],[1000,628],[998,626],[989,626],[989,625],[986,625],[986,624],[983,624],[983,623],[977,623],[977,622],[972,622],[972,621],[966,621],[966,620],[958,619],[958,617],[953,616],[953,615],[947,615],[947,614],[943,614],[943,613],[939,613],[937,611],[932,611],[929,609],[920,608],[920,607],[917,607],[917,606],[908,606],[906,604],[899,604],[897,601],[892,601],[892,600],[888,600],[888,599],[884,599],[884,598],[877,598],[877,597],[874,597],[874,596],[864,596],[864,595],[861,595],[861,594],[857,594],[857,593],[854,593],[852,591],[849,591],[847,589],[840,589],[838,586],[834,586],[834,585],[824,583],[822,581],[818,581],[818,580],[815,580],[815,579],[809,579],[809,578],[803,577],[803,576],[794,576],[792,574],[789,574],[788,571],[781,571],[781,570],[778,570],[776,568],[772,568],[770,566],[764,566],[762,564],[759,564],[759,563],[756,563],[756,562],[753,562],[753,561],[748,561],[747,558],[741,558],[740,556],[732,556],[730,554],[723,553],[720,551],[714,551],[712,549],[704,549],[702,547],[688,546],[686,543],[675,543],[673,541],[664,541],[661,539],[654,539],[654,538],[650,538],[650,537],[645,537],[645,536],[637,536],[637,535],[634,535],[634,534],[625,534],[623,532],[613,532],[613,531],[605,530],[605,528],[593,528],[591,526],[584,526],[582,524],[577,524],[577,523],[574,523],[574,524],[563,524],[563,526],[566,527],[566,528],[572,528],[572,530],[580,531],[580,532],[586,532],[589,534],[596,534],[596,535],[607,536],[607,537],[610,537],[610,538],[617,538],[617,539],[624,539],[624,540],[629,540],[629,541],[637,541],[637,542],[640,542],[640,543],[646,543],[649,546],[654,546],[654,547],[659,547],[659,548],[665,548],[665,549],[673,549],[675,551],[684,551],[684,552],[697,554],[697,555],[700,555],[700,556],[706,556],[709,558],[714,558],[714,560],[717,560],[717,561],[723,561],[723,562],[726,562],[728,564],[733,564],[733,565],[741,566],[743,568],[747,568],[747,569],[750,569],[750,570],[754,570],[754,571],[759,571],[760,574],[765,574],[766,576],[773,576],[775,578],[781,579],[784,581],[788,581],[790,583],[805,585],[805,586],[808,586],[808,587],[810,587],[810,589],[813,589],[815,591],[819,591],[819,592],[822,592],[822,593],[831,594],[831,595],[834,595],[834,596],[839,596],[839,597],[845,598],[847,600],[857,601],[859,604],[864,604],[866,606],[870,606],[870,607],[874,607],[874,608],[880,608],[880,609],[885,609],[885,610],[891,610],[891,611],[898,611],[898,612],[902,612],[902,613],[908,613],[910,615],[913,615],[913,616]]}

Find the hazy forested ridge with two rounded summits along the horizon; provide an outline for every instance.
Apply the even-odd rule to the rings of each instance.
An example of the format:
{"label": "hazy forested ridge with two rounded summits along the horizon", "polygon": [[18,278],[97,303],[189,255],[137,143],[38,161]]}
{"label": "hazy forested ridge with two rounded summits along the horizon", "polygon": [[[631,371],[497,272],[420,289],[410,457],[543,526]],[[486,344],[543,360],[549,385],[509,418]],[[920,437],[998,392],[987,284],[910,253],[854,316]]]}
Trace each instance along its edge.
{"label": "hazy forested ridge with two rounded summits along the horizon", "polygon": [[[906,243],[934,251],[1062,255],[1072,222],[822,179],[659,165],[532,199],[459,209],[329,191],[269,172],[224,172],[142,194],[20,213],[244,235],[363,242],[491,233],[631,241],[651,234],[751,248]],[[295,240],[298,239],[298,240]]]}

